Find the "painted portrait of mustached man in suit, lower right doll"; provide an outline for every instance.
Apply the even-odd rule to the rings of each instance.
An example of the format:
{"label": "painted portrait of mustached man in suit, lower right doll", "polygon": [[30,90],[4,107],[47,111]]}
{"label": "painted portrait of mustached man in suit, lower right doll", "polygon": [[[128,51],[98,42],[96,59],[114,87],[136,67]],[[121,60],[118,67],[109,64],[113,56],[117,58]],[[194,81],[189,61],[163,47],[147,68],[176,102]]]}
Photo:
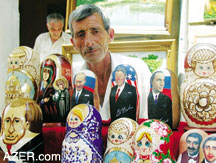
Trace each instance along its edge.
{"label": "painted portrait of mustached man in suit, lower right doll", "polygon": [[190,133],[186,137],[187,150],[179,155],[177,163],[199,163],[199,149],[202,139],[199,133]]}

